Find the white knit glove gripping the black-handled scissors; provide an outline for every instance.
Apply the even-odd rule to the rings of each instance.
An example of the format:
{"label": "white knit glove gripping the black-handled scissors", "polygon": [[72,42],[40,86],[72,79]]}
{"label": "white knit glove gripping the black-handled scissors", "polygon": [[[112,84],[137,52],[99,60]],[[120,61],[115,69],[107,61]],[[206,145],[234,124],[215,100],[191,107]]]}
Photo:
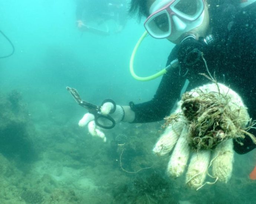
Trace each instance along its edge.
{"label": "white knit glove gripping the black-handled scissors", "polygon": [[[114,104],[111,102],[106,102],[101,106],[101,113],[102,115],[109,115],[111,116],[116,123],[120,122],[124,118],[124,109],[122,106],[116,105],[115,112],[110,113],[114,109]],[[109,126],[108,120],[104,118],[99,118],[98,122],[104,126]],[[104,132],[102,132],[102,128],[100,128],[95,123],[95,116],[91,113],[86,113],[83,118],[79,121],[78,125],[83,127],[88,124],[88,131],[92,136],[99,136],[106,142],[106,136]],[[110,124],[111,125],[111,124]]]}

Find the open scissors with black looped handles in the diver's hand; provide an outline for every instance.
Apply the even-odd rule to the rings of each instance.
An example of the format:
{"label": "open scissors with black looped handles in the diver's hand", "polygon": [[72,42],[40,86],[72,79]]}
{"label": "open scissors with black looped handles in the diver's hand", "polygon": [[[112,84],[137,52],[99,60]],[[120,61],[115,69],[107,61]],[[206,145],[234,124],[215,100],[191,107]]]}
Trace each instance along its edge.
{"label": "open scissors with black looped handles in the diver's hand", "polygon": [[[111,129],[111,128],[114,128],[115,126],[115,120],[109,116],[109,115],[102,115],[101,113],[101,106],[106,103],[106,102],[111,102],[114,104],[114,108],[111,110],[110,113],[114,113],[115,112],[115,109],[116,109],[116,104],[113,100],[111,99],[106,99],[102,102],[101,106],[97,106],[97,105],[94,105],[92,103],[89,103],[89,102],[86,102],[86,101],[83,101],[81,99],[81,97],[79,96],[79,93],[78,91],[76,91],[76,89],[74,88],[70,88],[70,87],[66,87],[66,89],[71,93],[71,95],[73,96],[73,98],[75,99],[75,101],[81,105],[82,107],[86,108],[88,110],[89,113],[93,114],[94,117],[95,117],[95,123],[96,125],[100,126],[101,128],[105,128],[105,129]],[[103,119],[102,121],[108,121],[106,122],[107,124],[110,122],[110,125],[103,125],[102,122],[99,121],[99,118]]]}

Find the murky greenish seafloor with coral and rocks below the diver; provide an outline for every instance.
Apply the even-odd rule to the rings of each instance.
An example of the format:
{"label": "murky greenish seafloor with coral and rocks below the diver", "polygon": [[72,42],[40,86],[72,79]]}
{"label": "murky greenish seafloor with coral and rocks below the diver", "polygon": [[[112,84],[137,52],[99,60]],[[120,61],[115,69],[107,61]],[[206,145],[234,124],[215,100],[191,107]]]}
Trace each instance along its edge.
{"label": "murky greenish seafloor with coral and rocks below the diver", "polygon": [[167,177],[168,156],[152,154],[160,123],[121,123],[106,131],[103,143],[58,109],[46,109],[45,119],[33,116],[18,91],[0,98],[1,204],[255,203],[256,181],[248,176],[255,151],[235,155],[227,184],[195,191],[184,177]]}

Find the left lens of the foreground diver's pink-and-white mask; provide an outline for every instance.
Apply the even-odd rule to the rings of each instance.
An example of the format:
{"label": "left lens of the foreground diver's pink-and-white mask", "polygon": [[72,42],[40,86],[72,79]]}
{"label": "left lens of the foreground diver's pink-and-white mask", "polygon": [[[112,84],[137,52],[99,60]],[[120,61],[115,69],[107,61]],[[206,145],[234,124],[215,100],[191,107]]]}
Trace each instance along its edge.
{"label": "left lens of the foreground diver's pink-and-white mask", "polygon": [[145,24],[147,31],[157,36],[169,35],[171,32],[170,20],[168,14],[163,12],[157,16],[152,16]]}

